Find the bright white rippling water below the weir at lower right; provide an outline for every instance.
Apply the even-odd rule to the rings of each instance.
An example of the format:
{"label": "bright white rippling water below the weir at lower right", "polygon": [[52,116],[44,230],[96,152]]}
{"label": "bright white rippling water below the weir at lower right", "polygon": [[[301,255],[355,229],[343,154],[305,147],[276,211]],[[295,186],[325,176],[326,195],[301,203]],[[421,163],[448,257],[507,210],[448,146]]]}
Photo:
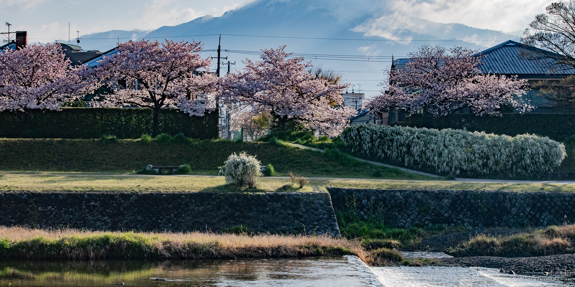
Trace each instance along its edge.
{"label": "bright white rippling water below the weir at lower right", "polygon": [[481,267],[373,267],[386,287],[560,287],[575,286],[574,278],[510,275]]}

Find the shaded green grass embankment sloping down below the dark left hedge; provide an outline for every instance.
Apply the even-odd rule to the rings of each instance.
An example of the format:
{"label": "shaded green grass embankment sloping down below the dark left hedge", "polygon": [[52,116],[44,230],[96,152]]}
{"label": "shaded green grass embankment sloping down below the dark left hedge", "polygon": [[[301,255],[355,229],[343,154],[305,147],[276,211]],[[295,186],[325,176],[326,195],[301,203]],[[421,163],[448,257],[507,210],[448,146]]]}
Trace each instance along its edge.
{"label": "shaded green grass embankment sloping down below the dark left hedge", "polygon": [[[140,139],[0,139],[0,168],[67,172],[132,172],[148,164],[189,164],[192,174],[217,174],[232,153],[245,150],[278,175],[293,172],[306,177],[431,179],[399,169],[356,161],[333,149],[320,153],[267,142],[190,140],[145,142]],[[376,172],[377,171],[377,172]]]}

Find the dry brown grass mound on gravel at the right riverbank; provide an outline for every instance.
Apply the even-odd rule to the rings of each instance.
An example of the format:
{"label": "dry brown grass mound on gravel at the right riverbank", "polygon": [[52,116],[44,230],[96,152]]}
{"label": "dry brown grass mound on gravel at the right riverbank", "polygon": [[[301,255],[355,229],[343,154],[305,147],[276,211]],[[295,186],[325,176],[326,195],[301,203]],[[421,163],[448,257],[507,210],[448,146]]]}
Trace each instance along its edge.
{"label": "dry brown grass mound on gravel at the right riverbank", "polygon": [[526,257],[575,253],[575,225],[550,226],[507,236],[476,235],[448,250],[455,256]]}

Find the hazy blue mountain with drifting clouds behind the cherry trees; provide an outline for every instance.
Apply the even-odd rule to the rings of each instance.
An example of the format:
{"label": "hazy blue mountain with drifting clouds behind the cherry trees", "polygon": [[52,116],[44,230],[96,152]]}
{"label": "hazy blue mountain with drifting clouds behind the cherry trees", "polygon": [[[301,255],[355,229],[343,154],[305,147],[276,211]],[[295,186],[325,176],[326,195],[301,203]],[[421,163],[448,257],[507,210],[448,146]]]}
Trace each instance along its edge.
{"label": "hazy blue mountain with drifting clouds behind the cherry trees", "polygon": [[[106,51],[115,45],[113,39],[88,39],[148,37],[161,40],[166,37],[174,40],[202,41],[204,49],[216,49],[218,36],[213,34],[223,34],[221,47],[225,51],[222,56],[228,57],[226,62],[228,60],[236,62],[233,68],[241,68],[240,61],[246,57],[257,59],[258,56],[252,55],[253,52],[250,51],[276,48],[279,45],[287,45],[287,51],[302,54],[380,56],[375,60],[351,57],[333,60],[333,56],[306,56],[315,65],[345,71],[343,79],[347,79],[350,83],[362,84],[362,90],[369,91],[366,95],[373,96],[380,89],[376,86],[377,83],[385,79],[384,71],[389,69],[392,55],[396,59],[405,57],[408,52],[416,51],[422,44],[459,45],[483,50],[517,38],[513,34],[500,31],[477,29],[463,24],[442,24],[398,14],[386,5],[385,1],[376,0],[353,2],[259,0],[239,9],[227,11],[221,17],[207,15],[184,24],[163,26],[150,32],[113,30],[84,35],[81,36],[83,38],[81,46],[84,49]],[[192,35],[195,36],[185,37]],[[329,38],[361,39],[361,41]],[[205,56],[216,56],[215,52],[205,54]]]}

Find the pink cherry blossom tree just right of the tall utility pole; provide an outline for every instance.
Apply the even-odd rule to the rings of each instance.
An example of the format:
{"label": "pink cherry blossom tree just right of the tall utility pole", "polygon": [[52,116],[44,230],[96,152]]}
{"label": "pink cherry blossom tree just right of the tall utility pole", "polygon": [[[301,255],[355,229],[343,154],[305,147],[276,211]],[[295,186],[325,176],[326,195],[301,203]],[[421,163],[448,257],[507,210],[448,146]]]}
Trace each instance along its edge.
{"label": "pink cherry blossom tree just right of the tall utility pole", "polygon": [[221,81],[221,99],[233,107],[270,114],[282,130],[288,121],[316,127],[337,135],[349,125],[355,111],[341,107],[340,92],[347,84],[330,83],[306,71],[312,67],[303,57],[291,57],[285,45],[262,50],[260,61],[243,61],[243,71],[229,73]]}

